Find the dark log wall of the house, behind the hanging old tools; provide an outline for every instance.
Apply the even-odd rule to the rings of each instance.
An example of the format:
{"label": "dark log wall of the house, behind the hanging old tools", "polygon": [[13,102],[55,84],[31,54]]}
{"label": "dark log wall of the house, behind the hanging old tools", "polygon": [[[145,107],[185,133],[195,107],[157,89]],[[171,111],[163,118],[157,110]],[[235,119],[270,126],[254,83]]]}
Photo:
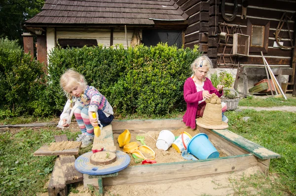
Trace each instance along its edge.
{"label": "dark log wall of the house, behind the hanging old tools", "polygon": [[[246,66],[261,66],[263,65],[260,51],[250,50],[249,56],[239,57],[234,59],[232,54],[233,38],[229,37],[227,46],[220,44],[220,23],[225,23],[229,26],[238,27],[242,34],[248,35],[247,26],[248,20],[252,24],[265,24],[269,22],[269,31],[267,39],[267,50],[264,52],[268,64],[279,67],[292,67],[293,49],[283,49],[274,47],[275,30],[280,22],[284,12],[292,17],[288,21],[290,34],[294,38],[296,1],[291,0],[249,0],[247,7],[246,18],[241,19],[242,5],[238,1],[238,11],[233,21],[225,21],[221,13],[221,0],[175,0],[180,8],[189,15],[188,27],[185,31],[185,47],[193,48],[195,44],[199,45],[199,50],[212,58],[214,65],[217,62],[218,67],[236,67],[239,61],[241,65]],[[225,0],[225,15],[231,17],[233,12],[233,0]],[[229,34],[233,34],[233,29],[229,28]],[[225,29],[222,30],[227,32]],[[238,31],[238,29],[235,29]],[[284,46],[291,46],[291,39],[288,34],[288,26],[286,23],[282,27],[279,36]],[[240,33],[240,32],[237,32]],[[216,34],[218,34],[216,36]],[[295,39],[294,39],[295,40]],[[255,48],[256,49],[256,48]],[[225,55],[222,55],[225,54]],[[223,56],[224,58],[220,59]],[[232,58],[230,58],[232,57]],[[236,61],[235,61],[236,60]]]}

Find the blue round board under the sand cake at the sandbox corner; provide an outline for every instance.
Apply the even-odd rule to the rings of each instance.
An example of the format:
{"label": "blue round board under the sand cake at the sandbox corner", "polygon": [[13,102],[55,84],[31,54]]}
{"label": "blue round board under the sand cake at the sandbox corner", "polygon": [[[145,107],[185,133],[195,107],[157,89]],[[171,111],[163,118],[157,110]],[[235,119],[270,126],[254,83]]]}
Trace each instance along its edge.
{"label": "blue round board under the sand cake at the sandbox corner", "polygon": [[131,158],[122,151],[116,151],[116,161],[109,165],[93,165],[90,163],[89,158],[93,152],[85,153],[75,160],[75,168],[83,174],[89,175],[105,175],[115,173],[128,166]]}

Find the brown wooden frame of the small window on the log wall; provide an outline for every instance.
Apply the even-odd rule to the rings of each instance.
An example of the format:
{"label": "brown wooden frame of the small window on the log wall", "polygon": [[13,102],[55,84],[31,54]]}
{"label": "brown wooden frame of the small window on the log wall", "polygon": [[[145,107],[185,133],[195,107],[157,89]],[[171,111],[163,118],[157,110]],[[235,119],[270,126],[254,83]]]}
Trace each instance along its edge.
{"label": "brown wooden frame of the small window on the log wall", "polygon": [[[252,29],[253,25],[264,26],[263,32],[263,46],[252,46]],[[270,21],[261,20],[261,19],[250,19],[248,18],[247,23],[247,35],[250,36],[250,50],[249,52],[263,52],[267,53],[268,51],[268,39],[269,39],[269,27]]]}

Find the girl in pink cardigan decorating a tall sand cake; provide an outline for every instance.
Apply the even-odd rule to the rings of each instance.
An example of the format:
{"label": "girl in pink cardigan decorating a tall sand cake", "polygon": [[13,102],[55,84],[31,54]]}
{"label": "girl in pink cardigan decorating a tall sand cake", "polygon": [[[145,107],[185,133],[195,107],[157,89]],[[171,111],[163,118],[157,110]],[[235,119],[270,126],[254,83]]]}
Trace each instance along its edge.
{"label": "girl in pink cardigan decorating a tall sand cake", "polygon": [[[183,117],[186,126],[191,129],[196,127],[195,118],[203,116],[206,106],[205,99],[211,98],[212,93],[221,97],[223,95],[223,85],[217,85],[217,89],[213,86],[211,80],[206,78],[212,61],[208,56],[200,56],[191,64],[193,75],[187,78],[184,84],[184,99],[187,103],[187,109]],[[222,113],[226,111],[226,104],[222,102]],[[228,119],[222,115],[222,120],[228,122]]]}

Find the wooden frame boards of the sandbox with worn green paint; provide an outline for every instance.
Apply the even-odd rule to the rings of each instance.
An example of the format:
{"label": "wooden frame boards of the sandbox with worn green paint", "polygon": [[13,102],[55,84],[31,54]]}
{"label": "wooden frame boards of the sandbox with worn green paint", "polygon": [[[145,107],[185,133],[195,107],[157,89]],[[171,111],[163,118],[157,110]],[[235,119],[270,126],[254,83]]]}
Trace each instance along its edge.
{"label": "wooden frame boards of the sandbox with worn green paint", "polygon": [[[148,120],[114,120],[109,125],[112,133],[122,133],[129,129],[131,134],[143,133],[143,131],[174,130],[184,127],[182,118],[174,119],[148,119]],[[105,128],[105,127],[104,127]],[[104,128],[102,131],[104,131]],[[138,129],[138,130],[137,130]],[[201,133],[208,135],[214,146],[228,157],[219,157],[205,160],[190,160],[172,163],[159,163],[150,165],[129,166],[116,175],[91,176],[84,174],[83,182],[99,186],[102,193],[102,185],[122,185],[134,183],[149,183],[155,181],[168,181],[178,178],[197,177],[204,175],[220,174],[259,165],[265,175],[268,175],[271,158],[280,158],[274,153],[252,141],[239,136],[228,129],[213,130],[198,126]],[[107,134],[105,137],[113,137]],[[104,139],[104,138],[103,138]],[[112,144],[110,144],[112,145]],[[102,178],[104,181],[102,182]]]}

